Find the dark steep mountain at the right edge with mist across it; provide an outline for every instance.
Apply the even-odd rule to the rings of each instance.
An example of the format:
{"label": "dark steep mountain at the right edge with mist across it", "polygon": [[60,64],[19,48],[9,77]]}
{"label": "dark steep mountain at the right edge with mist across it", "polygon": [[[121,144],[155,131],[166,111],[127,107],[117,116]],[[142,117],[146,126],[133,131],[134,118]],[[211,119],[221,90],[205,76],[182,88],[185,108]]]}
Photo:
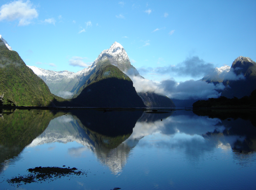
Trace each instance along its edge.
{"label": "dark steep mountain at the right edge with mist across it", "polygon": [[221,96],[227,98],[242,98],[250,96],[256,89],[256,62],[249,57],[238,57],[230,68],[232,75],[228,74],[223,84],[225,85]]}

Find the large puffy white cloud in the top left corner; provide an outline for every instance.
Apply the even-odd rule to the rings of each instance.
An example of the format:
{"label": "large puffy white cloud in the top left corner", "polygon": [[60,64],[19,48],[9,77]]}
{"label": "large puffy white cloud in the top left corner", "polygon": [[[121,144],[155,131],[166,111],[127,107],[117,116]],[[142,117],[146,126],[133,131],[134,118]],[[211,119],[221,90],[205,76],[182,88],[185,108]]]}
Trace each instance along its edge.
{"label": "large puffy white cloud in the top left corner", "polygon": [[25,26],[31,23],[31,20],[38,17],[38,12],[32,8],[30,1],[14,1],[4,4],[0,8],[1,20],[19,20],[18,26]]}

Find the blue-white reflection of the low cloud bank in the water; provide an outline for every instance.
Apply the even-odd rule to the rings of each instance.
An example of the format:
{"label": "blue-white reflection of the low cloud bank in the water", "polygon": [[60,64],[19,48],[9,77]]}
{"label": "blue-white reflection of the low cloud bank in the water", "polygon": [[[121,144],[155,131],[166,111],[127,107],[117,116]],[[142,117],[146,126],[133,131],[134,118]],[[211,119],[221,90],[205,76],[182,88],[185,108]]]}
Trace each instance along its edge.
{"label": "blue-white reflection of the low cloud bank in the water", "polygon": [[132,135],[124,142],[130,145],[139,140],[137,146],[159,149],[183,149],[187,156],[200,157],[215,148],[231,150],[237,140],[244,136],[223,136],[205,138],[208,132],[223,132],[225,129],[218,118],[208,118],[195,114],[177,114],[156,122],[137,122]]}

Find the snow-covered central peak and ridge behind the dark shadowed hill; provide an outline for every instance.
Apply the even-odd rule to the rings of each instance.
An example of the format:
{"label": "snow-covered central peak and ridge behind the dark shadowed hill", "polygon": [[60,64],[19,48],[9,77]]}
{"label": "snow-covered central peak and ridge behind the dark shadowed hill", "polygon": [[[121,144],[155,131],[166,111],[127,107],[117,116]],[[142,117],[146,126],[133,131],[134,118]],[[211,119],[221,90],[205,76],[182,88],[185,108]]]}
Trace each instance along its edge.
{"label": "snow-covered central peak and ridge behind the dark shadowed hill", "polygon": [[[139,72],[131,65],[129,57],[121,44],[115,42],[107,50],[103,50],[96,60],[88,68],[73,73],[70,71],[50,71],[35,66],[29,66],[35,74],[38,75],[49,86],[52,94],[63,98],[71,98],[77,94],[81,86],[90,78],[90,76],[99,68],[99,63],[108,58],[111,65],[115,65],[121,71],[129,75],[138,76]],[[96,66],[98,67],[96,68]]]}

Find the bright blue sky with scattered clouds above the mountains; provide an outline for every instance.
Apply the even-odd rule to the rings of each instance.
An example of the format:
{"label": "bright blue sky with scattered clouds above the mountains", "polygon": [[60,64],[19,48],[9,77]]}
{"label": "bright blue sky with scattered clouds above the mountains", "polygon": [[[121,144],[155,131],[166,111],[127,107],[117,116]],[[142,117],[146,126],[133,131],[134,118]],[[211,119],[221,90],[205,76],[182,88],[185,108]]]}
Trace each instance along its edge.
{"label": "bright blue sky with scattered clouds above the mountains", "polygon": [[256,1],[1,0],[0,34],[26,65],[77,72],[116,41],[147,79],[197,80],[256,61]]}

